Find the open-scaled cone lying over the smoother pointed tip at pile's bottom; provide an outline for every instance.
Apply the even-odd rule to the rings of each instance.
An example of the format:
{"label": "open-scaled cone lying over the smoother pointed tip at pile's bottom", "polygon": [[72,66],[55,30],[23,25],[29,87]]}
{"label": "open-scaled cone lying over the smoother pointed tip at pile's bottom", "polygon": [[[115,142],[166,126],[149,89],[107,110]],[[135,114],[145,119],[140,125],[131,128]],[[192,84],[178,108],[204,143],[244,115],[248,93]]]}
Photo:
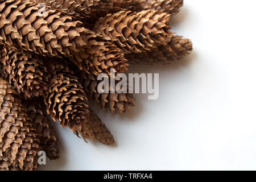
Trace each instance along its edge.
{"label": "open-scaled cone lying over the smoother pointed tip at pile's bottom", "polygon": [[51,75],[44,96],[47,113],[54,121],[59,120],[61,126],[75,130],[76,127],[81,127],[80,122],[88,115],[84,90],[64,60],[49,60],[47,64]]}

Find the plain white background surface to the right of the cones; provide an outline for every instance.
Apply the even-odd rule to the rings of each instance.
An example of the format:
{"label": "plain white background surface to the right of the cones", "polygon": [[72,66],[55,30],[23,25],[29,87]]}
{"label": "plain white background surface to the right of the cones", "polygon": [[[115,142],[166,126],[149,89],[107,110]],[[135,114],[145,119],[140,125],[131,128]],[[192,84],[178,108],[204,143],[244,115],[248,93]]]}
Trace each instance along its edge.
{"label": "plain white background surface to the right of the cones", "polygon": [[115,146],[84,143],[57,126],[56,170],[256,169],[256,1],[185,0],[173,31],[193,41],[193,52],[159,73],[158,100],[135,96],[123,115],[94,110]]}

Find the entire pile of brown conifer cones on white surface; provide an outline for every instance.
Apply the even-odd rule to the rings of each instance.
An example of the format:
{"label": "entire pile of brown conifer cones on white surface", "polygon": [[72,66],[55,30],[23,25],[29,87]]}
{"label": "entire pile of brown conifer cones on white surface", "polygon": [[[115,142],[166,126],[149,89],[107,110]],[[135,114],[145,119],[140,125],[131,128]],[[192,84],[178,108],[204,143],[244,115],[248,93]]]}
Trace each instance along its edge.
{"label": "entire pile of brown conifer cones on white surface", "polygon": [[0,170],[36,169],[41,150],[60,157],[49,118],[85,141],[113,144],[88,102],[124,113],[135,100],[98,93],[97,76],[188,55],[192,43],[169,26],[181,6],[183,0],[0,0]]}

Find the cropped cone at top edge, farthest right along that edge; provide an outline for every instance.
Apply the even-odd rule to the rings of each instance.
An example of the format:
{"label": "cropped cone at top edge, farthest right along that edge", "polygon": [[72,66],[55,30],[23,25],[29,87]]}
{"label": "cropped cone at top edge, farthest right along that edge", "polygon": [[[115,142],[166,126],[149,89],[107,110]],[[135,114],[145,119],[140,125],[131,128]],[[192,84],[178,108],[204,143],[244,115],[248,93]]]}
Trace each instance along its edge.
{"label": "cropped cone at top edge, farthest right along that edge", "polygon": [[179,13],[183,0],[133,0],[132,11],[158,10],[174,15]]}

